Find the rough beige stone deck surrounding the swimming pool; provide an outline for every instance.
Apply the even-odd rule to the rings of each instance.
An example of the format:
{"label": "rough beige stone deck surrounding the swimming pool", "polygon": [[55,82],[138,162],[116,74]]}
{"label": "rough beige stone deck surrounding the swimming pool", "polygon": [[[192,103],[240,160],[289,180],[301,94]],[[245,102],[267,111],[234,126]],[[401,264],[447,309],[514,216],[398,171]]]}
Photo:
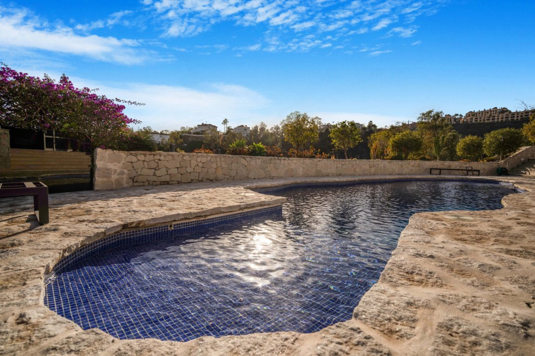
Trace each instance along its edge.
{"label": "rough beige stone deck surrounding the swimming pool", "polygon": [[[0,355],[530,355],[535,350],[535,179],[495,177],[527,193],[492,211],[417,213],[353,319],[313,334],[268,333],[186,343],[119,340],[82,330],[43,305],[43,275],[83,244],[123,228],[280,204],[256,179],[50,196],[51,223],[30,203],[0,200]],[[466,178],[466,177],[462,177]],[[478,177],[480,178],[480,177]]]}

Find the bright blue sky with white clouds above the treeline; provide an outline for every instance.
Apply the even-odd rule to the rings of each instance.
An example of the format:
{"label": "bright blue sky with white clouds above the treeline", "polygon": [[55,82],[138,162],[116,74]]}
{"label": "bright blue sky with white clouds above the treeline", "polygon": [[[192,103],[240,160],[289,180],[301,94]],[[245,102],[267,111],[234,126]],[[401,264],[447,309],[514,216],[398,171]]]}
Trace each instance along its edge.
{"label": "bright blue sky with white clouds above the treeline", "polygon": [[0,0],[0,60],[145,102],[152,128],[535,105],[535,2]]}

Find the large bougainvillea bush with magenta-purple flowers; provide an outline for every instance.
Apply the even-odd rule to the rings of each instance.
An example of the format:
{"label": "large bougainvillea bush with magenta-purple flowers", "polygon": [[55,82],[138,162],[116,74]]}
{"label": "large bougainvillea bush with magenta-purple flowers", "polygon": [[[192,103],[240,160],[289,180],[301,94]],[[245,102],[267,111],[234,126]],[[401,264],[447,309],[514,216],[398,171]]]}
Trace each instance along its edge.
{"label": "large bougainvillea bush with magenta-purple flowers", "polygon": [[98,89],[75,88],[65,75],[58,82],[0,67],[0,125],[30,130],[55,130],[88,141],[91,148],[124,146],[139,121],[123,113],[134,101],[109,99]]}

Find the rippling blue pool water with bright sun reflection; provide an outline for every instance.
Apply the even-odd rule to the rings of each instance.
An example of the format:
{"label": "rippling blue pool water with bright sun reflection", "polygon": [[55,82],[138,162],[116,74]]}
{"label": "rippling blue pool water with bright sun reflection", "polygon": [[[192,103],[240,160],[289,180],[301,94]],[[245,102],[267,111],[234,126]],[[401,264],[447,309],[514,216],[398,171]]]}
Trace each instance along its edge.
{"label": "rippling blue pool water with bright sun reflection", "polygon": [[288,198],[282,213],[100,252],[49,278],[45,304],[121,339],[311,333],[351,318],[412,214],[499,209],[512,192],[463,181],[265,192]]}

